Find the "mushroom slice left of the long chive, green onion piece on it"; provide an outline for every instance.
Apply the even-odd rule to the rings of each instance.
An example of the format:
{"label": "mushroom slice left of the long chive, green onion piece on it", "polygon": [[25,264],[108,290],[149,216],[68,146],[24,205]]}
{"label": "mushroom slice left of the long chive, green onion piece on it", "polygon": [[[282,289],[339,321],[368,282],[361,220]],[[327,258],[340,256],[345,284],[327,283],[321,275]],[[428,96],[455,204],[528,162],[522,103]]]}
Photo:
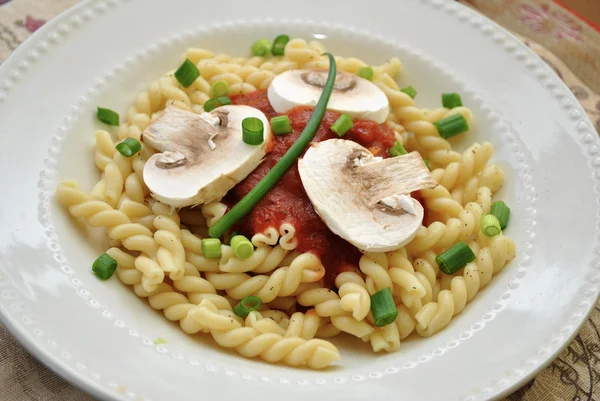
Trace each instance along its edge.
{"label": "mushroom slice left of the long chive, green onion piece on it", "polygon": [[[242,140],[242,120],[258,117],[263,143]],[[265,115],[249,106],[223,106],[198,115],[169,106],[143,132],[142,139],[161,153],[144,167],[144,182],[154,198],[174,207],[223,197],[262,161],[271,139]]]}

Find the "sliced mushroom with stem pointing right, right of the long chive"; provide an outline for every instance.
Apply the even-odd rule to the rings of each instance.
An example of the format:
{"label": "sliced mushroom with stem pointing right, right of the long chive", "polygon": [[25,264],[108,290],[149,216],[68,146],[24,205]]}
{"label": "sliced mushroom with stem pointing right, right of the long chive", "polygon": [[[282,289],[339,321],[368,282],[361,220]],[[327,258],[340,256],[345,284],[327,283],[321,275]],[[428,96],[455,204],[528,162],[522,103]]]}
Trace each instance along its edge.
{"label": "sliced mushroom with stem pointing right, right of the long chive", "polygon": [[391,251],[414,238],[423,206],[410,193],[437,185],[417,152],[381,159],[344,139],[313,144],[298,170],[327,227],[364,251]]}

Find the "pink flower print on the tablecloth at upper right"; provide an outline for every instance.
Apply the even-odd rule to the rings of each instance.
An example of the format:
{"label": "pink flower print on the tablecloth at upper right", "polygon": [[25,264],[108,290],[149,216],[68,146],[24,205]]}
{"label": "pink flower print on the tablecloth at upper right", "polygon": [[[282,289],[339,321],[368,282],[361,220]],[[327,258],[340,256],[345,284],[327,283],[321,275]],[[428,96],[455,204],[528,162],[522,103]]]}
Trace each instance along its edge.
{"label": "pink flower print on the tablecloth at upper right", "polygon": [[581,42],[582,26],[570,15],[559,11],[550,11],[548,4],[539,7],[522,4],[521,22],[536,32],[552,35],[556,39]]}

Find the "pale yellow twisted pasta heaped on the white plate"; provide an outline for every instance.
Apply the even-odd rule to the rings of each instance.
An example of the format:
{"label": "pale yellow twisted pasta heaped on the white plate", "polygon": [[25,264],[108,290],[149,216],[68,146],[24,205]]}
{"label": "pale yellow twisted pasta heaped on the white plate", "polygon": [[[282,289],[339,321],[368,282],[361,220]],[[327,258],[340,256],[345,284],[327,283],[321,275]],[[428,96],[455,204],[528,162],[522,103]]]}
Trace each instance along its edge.
{"label": "pale yellow twisted pasta heaped on the white plate", "polygon": [[[514,243],[504,234],[488,237],[483,232],[482,216],[491,213],[494,194],[505,180],[502,169],[489,163],[493,145],[483,142],[462,153],[453,150],[436,123],[453,116],[469,123],[474,118],[472,111],[462,105],[422,108],[398,86],[396,78],[403,73],[403,66],[395,57],[378,66],[355,57],[335,57],[335,62],[339,71],[349,74],[369,70],[372,76],[368,79],[389,104],[383,125],[355,122],[359,125],[356,132],[389,133],[398,146],[419,152],[432,167],[431,178],[438,185],[418,191],[426,218],[420,227],[415,226],[416,235],[403,247],[359,252],[340,242],[341,238],[331,239],[333,234],[318,219],[320,213],[307,201],[304,189],[290,189],[291,179],[300,182],[296,167],[282,178],[288,181],[273,189],[287,188],[278,196],[290,197],[289,204],[267,202],[268,207],[262,209],[259,204],[255,210],[260,218],[250,215],[245,225],[239,225],[252,245],[248,255],[238,252],[231,230],[215,248],[203,247],[209,231],[251,189],[245,189],[245,181],[225,197],[183,208],[153,198],[144,169],[157,150],[144,140],[144,131],[165,109],[201,114],[214,97],[215,84],[221,83],[234,103],[252,106],[244,102],[266,99],[261,94],[287,71],[328,69],[330,59],[325,52],[322,43],[300,38],[287,42],[284,55],[277,56],[231,57],[188,49],[185,59],[199,72],[193,82],[185,87],[175,71],[169,71],[135,97],[118,127],[96,131],[94,162],[100,176],[91,191],[68,180],[57,188],[57,198],[71,216],[106,229],[106,254],[116,261],[117,277],[168,320],[178,322],[185,333],[210,334],[219,345],[235,348],[245,357],[315,369],[340,358],[338,349],[324,340],[340,332],[368,342],[374,352],[397,351],[413,333],[434,335],[448,326],[516,253]],[[287,112],[294,130],[304,118],[303,112],[302,108]],[[292,119],[294,113],[300,117]],[[275,115],[272,110],[271,114]],[[333,120],[324,119],[323,131],[329,132],[331,123]],[[360,138],[359,134],[352,135]],[[350,139],[360,142],[356,137]],[[141,141],[130,157],[117,151],[128,139]],[[381,143],[371,145],[371,153],[387,156],[388,149]],[[269,163],[266,158],[257,170],[273,167],[274,162]],[[329,241],[325,242],[328,247],[319,247],[323,238]],[[467,244],[476,258],[446,274],[438,257],[460,242]],[[334,264],[336,268],[330,270]],[[379,321],[373,296],[388,290],[395,318]],[[236,309],[250,298],[258,298],[261,305],[238,315]]]}

